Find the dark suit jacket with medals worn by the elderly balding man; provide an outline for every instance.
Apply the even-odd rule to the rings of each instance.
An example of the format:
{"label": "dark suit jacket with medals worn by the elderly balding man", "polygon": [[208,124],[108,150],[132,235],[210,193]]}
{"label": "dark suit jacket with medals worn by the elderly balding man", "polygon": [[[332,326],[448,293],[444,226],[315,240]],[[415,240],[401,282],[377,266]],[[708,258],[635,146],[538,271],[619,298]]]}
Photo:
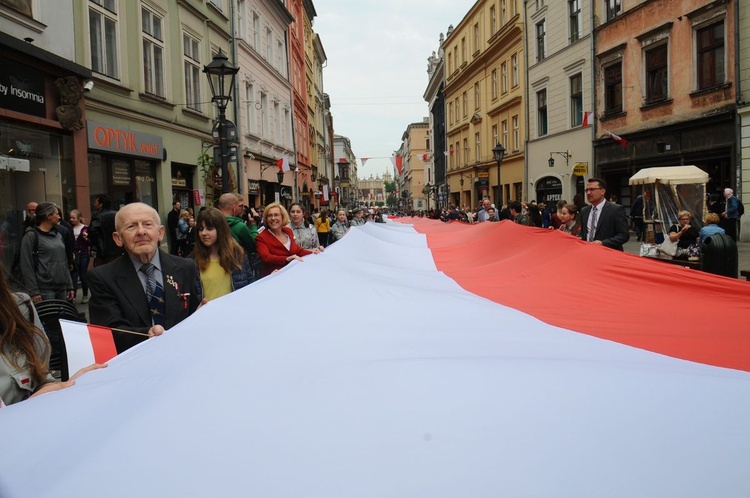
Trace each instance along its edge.
{"label": "dark suit jacket with medals worn by the elderly balding man", "polygon": [[[198,308],[203,299],[203,286],[195,261],[171,256],[164,251],[159,251],[159,256],[166,301],[164,328],[168,330]],[[88,277],[92,325],[148,332],[151,328],[151,311],[130,256],[125,254],[111,263],[98,266],[89,271]],[[185,293],[190,296],[180,296]],[[118,352],[145,340],[145,337],[133,334],[115,333],[114,336]]]}

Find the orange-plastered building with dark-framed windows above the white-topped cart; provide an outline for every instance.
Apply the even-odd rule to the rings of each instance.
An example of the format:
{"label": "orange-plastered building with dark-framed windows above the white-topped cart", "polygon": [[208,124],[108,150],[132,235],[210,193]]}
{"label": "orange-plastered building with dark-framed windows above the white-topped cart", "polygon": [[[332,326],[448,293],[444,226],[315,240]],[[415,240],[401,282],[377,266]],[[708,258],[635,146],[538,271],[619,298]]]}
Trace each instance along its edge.
{"label": "orange-plastered building with dark-framed windows above the white-topped cart", "polygon": [[709,174],[709,194],[737,190],[735,2],[594,5],[594,173],[610,194],[629,206],[636,171],[682,164]]}

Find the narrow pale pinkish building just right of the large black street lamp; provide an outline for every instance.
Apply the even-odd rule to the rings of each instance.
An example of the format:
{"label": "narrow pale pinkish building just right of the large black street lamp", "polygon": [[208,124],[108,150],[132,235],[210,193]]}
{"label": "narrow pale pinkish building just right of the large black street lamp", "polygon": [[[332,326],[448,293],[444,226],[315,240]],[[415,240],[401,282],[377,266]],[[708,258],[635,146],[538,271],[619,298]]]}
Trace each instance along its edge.
{"label": "narrow pale pinkish building just right of the large black street lamp", "polygon": [[291,197],[293,174],[282,192],[276,161],[294,164],[292,84],[289,78],[287,31],[291,13],[273,0],[237,2],[237,122],[241,140],[242,193],[247,205],[260,207]]}

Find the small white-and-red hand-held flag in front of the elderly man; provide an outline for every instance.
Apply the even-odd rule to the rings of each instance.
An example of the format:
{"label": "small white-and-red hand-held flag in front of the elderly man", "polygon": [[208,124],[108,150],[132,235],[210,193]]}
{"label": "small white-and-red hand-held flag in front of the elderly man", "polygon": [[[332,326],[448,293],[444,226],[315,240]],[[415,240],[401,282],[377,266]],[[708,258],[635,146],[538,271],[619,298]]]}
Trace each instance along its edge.
{"label": "small white-and-red hand-held flag in front of the elderly man", "polygon": [[92,363],[105,363],[118,354],[111,328],[69,320],[60,320],[60,328],[70,375]]}

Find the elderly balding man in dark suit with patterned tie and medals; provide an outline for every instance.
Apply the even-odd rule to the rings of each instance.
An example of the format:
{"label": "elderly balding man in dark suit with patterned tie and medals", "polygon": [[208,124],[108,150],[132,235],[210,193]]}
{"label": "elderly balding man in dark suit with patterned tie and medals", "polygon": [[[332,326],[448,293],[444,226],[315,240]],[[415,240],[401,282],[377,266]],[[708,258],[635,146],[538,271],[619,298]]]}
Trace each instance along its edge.
{"label": "elderly balding man in dark suit with patterned tie and medals", "polygon": [[[151,206],[136,202],[117,212],[115,243],[120,258],[89,272],[91,323],[161,335],[190,316],[203,300],[200,273],[192,259],[159,250],[164,226]],[[145,337],[115,334],[118,351]]]}

